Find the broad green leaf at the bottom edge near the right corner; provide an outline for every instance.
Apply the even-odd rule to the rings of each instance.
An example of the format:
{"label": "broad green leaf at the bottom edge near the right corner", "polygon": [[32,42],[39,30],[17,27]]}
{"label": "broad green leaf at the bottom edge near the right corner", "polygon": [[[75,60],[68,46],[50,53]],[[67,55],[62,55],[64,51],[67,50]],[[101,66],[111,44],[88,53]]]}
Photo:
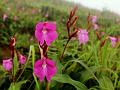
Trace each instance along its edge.
{"label": "broad green leaf at the bottom edge near the right corner", "polygon": [[102,76],[99,82],[101,90],[114,90],[113,83],[108,77]]}

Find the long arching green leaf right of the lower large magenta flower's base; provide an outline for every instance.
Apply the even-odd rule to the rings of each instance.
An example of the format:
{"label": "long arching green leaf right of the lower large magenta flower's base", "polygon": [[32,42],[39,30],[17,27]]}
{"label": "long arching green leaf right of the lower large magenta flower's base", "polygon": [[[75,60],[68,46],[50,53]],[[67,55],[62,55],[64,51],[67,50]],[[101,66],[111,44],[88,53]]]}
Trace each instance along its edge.
{"label": "long arching green leaf right of the lower large magenta flower's base", "polygon": [[73,85],[77,90],[87,90],[87,87],[84,84],[82,84],[79,81],[75,81],[71,79],[68,75],[65,75],[65,74],[57,74],[52,78],[52,80],[55,80],[61,83],[69,83]]}

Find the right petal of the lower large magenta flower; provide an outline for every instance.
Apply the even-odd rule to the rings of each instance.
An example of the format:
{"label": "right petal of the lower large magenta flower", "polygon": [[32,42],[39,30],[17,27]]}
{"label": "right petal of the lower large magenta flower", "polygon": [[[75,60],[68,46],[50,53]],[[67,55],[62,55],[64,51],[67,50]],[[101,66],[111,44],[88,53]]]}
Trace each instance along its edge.
{"label": "right petal of the lower large magenta flower", "polygon": [[53,60],[46,60],[47,62],[47,74],[46,74],[46,79],[48,81],[51,80],[51,78],[56,74],[57,68],[55,66],[55,62]]}

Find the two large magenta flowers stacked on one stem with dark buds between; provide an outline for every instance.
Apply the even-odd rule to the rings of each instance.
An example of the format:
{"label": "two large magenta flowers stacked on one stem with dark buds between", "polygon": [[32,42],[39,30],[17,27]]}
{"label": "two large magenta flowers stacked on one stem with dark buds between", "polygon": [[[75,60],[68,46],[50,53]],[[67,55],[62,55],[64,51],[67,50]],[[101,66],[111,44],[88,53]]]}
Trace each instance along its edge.
{"label": "two large magenta flowers stacked on one stem with dark buds between", "polygon": [[40,43],[41,59],[34,64],[34,74],[42,82],[44,77],[47,81],[56,74],[57,68],[55,62],[50,60],[47,56],[47,47],[57,38],[56,23],[55,22],[39,22],[36,25],[35,37]]}

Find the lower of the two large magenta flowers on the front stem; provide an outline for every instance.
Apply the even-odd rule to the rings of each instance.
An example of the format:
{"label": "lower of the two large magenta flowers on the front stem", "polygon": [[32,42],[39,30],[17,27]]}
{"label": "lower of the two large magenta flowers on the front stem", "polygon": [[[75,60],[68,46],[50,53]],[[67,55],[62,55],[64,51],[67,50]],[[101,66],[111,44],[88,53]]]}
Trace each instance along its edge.
{"label": "lower of the two large magenta flowers on the front stem", "polygon": [[39,78],[40,81],[43,81],[44,77],[50,81],[56,72],[57,68],[53,60],[44,57],[43,59],[35,62],[34,74]]}

